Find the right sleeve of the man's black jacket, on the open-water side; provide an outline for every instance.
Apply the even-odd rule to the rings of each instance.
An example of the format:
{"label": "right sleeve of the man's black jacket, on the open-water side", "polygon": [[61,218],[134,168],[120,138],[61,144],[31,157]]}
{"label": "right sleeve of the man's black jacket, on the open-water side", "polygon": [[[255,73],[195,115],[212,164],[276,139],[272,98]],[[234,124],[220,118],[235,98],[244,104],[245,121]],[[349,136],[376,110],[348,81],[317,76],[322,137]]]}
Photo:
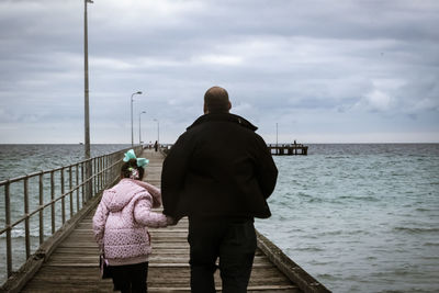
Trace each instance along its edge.
{"label": "right sleeve of the man's black jacket, on the open-water side", "polygon": [[266,142],[258,135],[257,143],[257,177],[263,198],[268,199],[274,191],[278,180],[278,168],[273,161]]}

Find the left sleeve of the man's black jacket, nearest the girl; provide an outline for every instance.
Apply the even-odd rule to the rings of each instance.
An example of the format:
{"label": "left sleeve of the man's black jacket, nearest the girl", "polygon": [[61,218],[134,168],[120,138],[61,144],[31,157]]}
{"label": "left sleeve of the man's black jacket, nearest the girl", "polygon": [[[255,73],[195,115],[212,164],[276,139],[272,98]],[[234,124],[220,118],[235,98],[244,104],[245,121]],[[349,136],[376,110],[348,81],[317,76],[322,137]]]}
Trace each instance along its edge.
{"label": "left sleeve of the man's black jacket, nearest the girl", "polygon": [[184,189],[184,180],[189,169],[190,146],[187,135],[182,134],[165,158],[161,171],[161,200],[164,214],[181,218],[179,203]]}

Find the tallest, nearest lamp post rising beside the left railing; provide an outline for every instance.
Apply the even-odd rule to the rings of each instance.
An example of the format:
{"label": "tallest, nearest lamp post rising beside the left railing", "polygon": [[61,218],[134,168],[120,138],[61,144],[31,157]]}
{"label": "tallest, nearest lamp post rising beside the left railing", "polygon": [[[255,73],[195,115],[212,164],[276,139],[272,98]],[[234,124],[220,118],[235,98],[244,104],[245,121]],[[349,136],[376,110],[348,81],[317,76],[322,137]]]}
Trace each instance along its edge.
{"label": "tallest, nearest lamp post rising beside the left railing", "polygon": [[[90,111],[89,111],[89,41],[87,26],[87,3],[93,3],[91,0],[83,0],[83,121],[85,121],[85,157],[90,159]],[[86,164],[86,178],[91,178],[91,162]],[[91,181],[86,187],[86,194],[82,201],[91,199]]]}

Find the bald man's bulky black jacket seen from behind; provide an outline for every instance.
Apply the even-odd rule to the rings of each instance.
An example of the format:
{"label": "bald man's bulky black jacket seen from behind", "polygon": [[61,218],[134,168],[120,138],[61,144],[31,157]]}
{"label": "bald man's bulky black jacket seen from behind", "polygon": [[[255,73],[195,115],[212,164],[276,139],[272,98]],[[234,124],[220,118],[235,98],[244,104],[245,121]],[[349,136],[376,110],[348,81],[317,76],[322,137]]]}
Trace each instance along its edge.
{"label": "bald man's bulky black jacket seen from behind", "polygon": [[188,127],[164,162],[164,213],[176,218],[269,217],[266,200],[278,169],[256,129],[229,113],[205,114]]}

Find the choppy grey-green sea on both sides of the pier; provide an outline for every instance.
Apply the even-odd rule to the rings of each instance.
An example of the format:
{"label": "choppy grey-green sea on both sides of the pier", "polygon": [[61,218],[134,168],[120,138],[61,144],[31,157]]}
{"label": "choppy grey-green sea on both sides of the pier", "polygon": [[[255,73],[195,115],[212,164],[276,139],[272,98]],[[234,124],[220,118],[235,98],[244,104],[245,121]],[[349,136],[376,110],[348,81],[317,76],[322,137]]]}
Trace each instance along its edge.
{"label": "choppy grey-green sea on both sides of the pier", "polygon": [[[274,156],[272,216],[257,219],[257,229],[333,292],[439,292],[439,144],[308,146],[307,156]],[[126,147],[92,145],[91,153]],[[74,164],[82,153],[0,145],[0,181]],[[0,199],[0,222],[3,206]]]}

